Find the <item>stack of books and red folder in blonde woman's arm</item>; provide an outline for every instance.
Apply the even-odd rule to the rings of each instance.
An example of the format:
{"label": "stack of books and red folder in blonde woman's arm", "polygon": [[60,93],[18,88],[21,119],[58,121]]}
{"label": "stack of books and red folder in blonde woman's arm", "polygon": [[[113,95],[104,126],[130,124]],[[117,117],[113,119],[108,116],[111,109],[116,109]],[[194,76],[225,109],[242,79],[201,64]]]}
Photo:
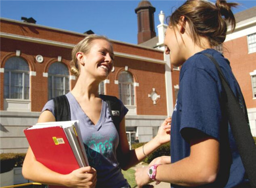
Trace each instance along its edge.
{"label": "stack of books and red folder in blonde woman's arm", "polygon": [[24,130],[37,161],[60,174],[89,166],[78,121],[37,123]]}

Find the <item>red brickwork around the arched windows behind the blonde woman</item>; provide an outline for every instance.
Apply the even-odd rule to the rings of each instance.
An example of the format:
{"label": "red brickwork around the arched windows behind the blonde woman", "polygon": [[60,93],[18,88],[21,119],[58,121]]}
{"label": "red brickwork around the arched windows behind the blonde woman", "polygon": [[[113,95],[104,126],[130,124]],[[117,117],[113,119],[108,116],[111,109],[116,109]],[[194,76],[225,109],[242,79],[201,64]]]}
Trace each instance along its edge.
{"label": "red brickwork around the arched windows behind the blonde woman", "polygon": [[[14,23],[1,19],[1,32],[12,33],[15,35],[29,36],[58,42],[75,44],[80,41],[84,35],[72,34],[68,32],[55,31],[52,29],[37,27],[25,23]],[[31,76],[30,79],[30,99],[31,110],[41,111],[42,107],[48,101],[48,78],[43,77],[43,73],[48,73],[48,68],[51,63],[57,61],[57,57],[61,56],[61,62],[69,66],[71,60],[71,50],[59,46],[39,44],[22,40],[7,39],[1,37],[1,64],[4,67],[5,61],[11,56],[16,55],[16,50],[20,50],[20,57],[24,58],[31,71],[36,72],[36,76]],[[113,41],[115,52],[126,53],[147,58],[163,60],[163,53],[153,49],[145,49],[133,44]],[[35,60],[36,55],[42,55],[44,62],[38,63]],[[166,115],[166,92],[164,65],[146,62],[142,60],[134,60],[130,58],[115,57],[115,72],[109,76],[110,84],[106,84],[106,94],[118,97],[118,85],[114,84],[114,80],[118,80],[118,73],[124,66],[129,66],[129,71],[133,74],[135,82],[139,83],[135,87],[137,113],[146,115]],[[0,89],[4,90],[4,74],[0,73]],[[76,81],[71,81],[71,88],[74,87]],[[156,88],[158,95],[161,98],[154,105],[148,94],[152,88]],[[0,93],[0,110],[3,110],[3,92]]]}

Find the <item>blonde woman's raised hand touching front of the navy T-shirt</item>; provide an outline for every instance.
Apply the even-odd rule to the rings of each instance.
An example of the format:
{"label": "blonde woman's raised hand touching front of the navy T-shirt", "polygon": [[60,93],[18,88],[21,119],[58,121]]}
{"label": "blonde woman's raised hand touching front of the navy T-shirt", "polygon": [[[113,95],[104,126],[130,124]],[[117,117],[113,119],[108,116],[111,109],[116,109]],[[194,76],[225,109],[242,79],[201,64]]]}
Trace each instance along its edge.
{"label": "blonde woman's raised hand touching front of the navy T-shirt", "polygon": [[155,139],[157,139],[157,142],[160,145],[167,143],[170,140],[170,123],[172,123],[172,118],[168,117],[158,129]]}

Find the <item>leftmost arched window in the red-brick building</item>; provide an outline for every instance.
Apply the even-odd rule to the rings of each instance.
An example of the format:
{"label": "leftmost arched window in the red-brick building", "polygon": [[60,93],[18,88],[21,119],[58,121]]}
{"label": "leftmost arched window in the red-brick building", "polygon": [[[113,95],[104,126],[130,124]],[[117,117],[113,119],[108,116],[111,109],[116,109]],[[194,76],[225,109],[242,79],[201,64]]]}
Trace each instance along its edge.
{"label": "leftmost arched window in the red-brick building", "polygon": [[5,99],[29,99],[29,65],[19,57],[11,57],[5,63]]}

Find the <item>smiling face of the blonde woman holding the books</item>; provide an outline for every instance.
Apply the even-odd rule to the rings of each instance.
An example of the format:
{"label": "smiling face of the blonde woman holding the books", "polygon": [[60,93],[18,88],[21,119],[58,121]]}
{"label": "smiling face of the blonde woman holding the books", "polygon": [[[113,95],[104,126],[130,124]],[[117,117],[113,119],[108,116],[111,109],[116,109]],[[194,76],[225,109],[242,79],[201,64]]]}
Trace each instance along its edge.
{"label": "smiling face of the blonde woman holding the books", "polygon": [[114,52],[110,42],[104,39],[95,39],[90,44],[87,54],[77,53],[81,69],[86,76],[104,80],[109,76],[113,68]]}

